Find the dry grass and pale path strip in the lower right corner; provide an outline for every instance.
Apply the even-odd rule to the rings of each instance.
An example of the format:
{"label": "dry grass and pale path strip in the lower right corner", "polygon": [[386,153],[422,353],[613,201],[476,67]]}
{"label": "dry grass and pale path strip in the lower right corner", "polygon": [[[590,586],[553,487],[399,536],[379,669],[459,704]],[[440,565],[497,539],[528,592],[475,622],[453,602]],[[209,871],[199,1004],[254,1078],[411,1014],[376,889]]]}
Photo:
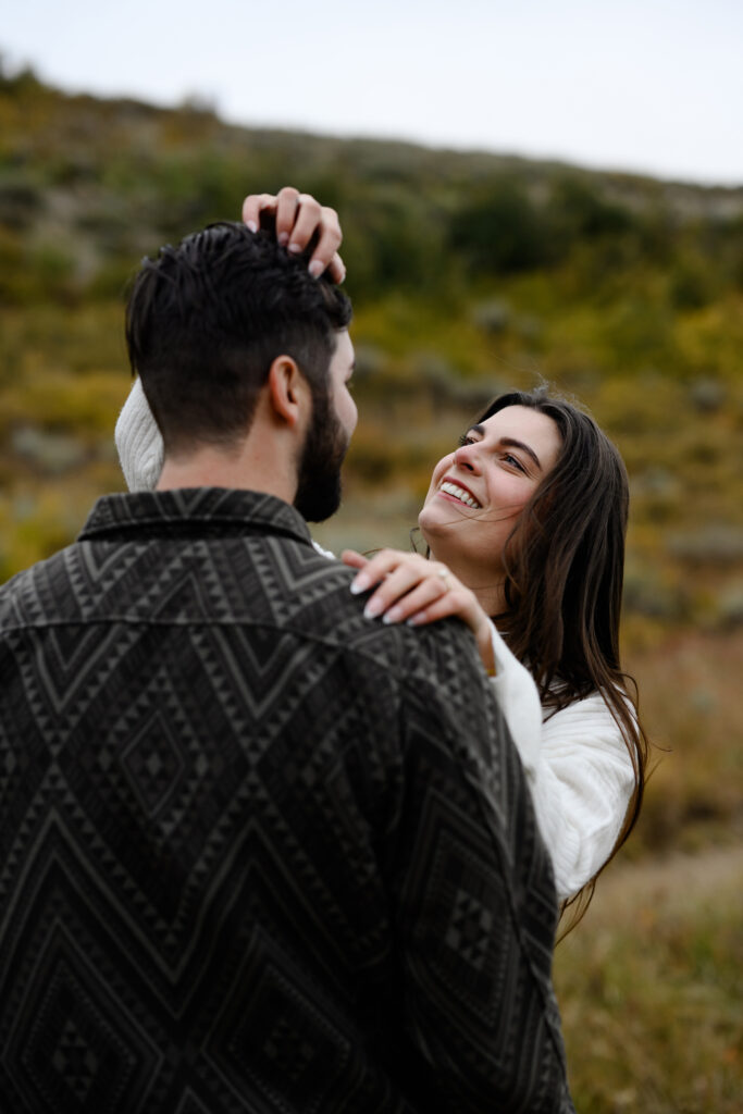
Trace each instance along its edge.
{"label": "dry grass and pale path strip in the lower right corner", "polygon": [[740,1114],[743,850],[616,866],[558,946],[578,1114]]}

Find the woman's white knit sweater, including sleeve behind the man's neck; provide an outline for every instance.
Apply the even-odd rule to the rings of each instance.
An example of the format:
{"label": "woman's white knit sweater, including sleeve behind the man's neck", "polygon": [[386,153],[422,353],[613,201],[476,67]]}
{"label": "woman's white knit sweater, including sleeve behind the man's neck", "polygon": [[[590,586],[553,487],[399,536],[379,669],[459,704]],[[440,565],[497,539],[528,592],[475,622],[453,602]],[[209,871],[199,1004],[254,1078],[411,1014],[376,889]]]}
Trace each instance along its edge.
{"label": "woman's white knit sweater, including sleeve behind the man's neck", "polygon": [[[163,441],[138,379],[115,438],[129,489],[154,488],[163,468]],[[550,715],[531,675],[495,626],[492,649],[492,686],[531,786],[561,901],[577,893],[612,853],[635,784],[632,761],[599,693]]]}

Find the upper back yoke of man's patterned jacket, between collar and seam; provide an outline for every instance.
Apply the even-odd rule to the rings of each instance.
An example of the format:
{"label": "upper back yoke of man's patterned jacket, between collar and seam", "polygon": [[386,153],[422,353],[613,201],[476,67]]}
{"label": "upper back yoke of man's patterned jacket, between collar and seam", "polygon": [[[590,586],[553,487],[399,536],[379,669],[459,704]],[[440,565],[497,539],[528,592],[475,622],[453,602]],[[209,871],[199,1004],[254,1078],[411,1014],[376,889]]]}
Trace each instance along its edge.
{"label": "upper back yoke of man's patterned jacket, between collar and seam", "polygon": [[477,668],[466,627],[387,625],[351,593],[355,570],[281,534],[174,538],[163,545],[78,540],[0,587],[0,627],[95,617],[141,623],[261,625],[334,645],[398,680],[462,676]]}

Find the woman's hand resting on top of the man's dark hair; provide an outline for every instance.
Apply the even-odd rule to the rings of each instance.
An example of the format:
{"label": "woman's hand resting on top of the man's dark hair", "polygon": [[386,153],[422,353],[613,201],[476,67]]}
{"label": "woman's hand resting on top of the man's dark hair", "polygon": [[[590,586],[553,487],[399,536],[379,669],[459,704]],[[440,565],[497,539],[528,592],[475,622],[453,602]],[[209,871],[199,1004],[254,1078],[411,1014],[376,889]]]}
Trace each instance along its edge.
{"label": "woman's hand resting on top of the man's dark hair", "polygon": [[310,258],[310,274],[316,278],[326,271],[331,282],[343,282],[345,267],[338,254],[343,233],[335,209],[321,205],[310,194],[301,194],[293,186],[284,186],[277,194],[250,194],[245,198],[243,222],[251,232],[258,231],[262,213],[276,218],[276,240],[293,254],[300,255],[317,233],[317,243]]}

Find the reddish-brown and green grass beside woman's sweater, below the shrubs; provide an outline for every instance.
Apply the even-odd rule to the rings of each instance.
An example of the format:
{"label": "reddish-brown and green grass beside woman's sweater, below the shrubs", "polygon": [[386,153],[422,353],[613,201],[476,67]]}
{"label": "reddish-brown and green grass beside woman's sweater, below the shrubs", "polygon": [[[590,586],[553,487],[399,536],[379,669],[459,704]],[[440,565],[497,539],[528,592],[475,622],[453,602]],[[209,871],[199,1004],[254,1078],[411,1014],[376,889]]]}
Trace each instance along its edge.
{"label": "reddish-brown and green grass beside woman's sweater, below the shrubs", "polygon": [[579,1114],[740,1114],[743,632],[629,655],[656,751],[637,831],[558,946]]}

